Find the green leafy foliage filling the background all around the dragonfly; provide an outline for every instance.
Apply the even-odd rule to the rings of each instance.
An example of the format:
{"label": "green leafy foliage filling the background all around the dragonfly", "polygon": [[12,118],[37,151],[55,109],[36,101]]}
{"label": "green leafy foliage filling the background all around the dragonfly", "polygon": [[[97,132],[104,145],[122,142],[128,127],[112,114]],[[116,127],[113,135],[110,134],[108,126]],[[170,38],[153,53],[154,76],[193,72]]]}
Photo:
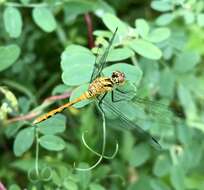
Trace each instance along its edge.
{"label": "green leafy foliage filling the background all around the dragonfly", "polygon": [[[74,164],[87,168],[98,159],[82,143],[84,132],[89,146],[101,150],[103,121],[94,103],[31,123],[87,89],[97,52],[90,38],[106,47],[116,27],[104,73],[121,70],[137,87],[130,104],[117,106],[162,150],[134,131],[113,129],[116,117],[107,121],[105,154],[118,141],[117,155],[76,171]],[[202,0],[0,0],[0,187],[203,190],[203,27]]]}

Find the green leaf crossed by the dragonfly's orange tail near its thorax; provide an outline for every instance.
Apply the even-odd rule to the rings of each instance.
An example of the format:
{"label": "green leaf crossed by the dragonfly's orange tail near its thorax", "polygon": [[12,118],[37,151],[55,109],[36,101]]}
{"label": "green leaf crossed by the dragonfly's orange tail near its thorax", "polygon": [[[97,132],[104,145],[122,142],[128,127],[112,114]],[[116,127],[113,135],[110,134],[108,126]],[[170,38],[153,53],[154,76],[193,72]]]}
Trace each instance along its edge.
{"label": "green leaf crossed by the dragonfly's orange tail near its thorax", "polygon": [[[89,84],[83,84],[77,88],[75,88],[72,91],[71,97],[70,97],[70,101],[75,100],[76,98],[80,97],[84,92],[86,92],[88,90]],[[92,102],[93,99],[87,99],[87,100],[83,100],[79,103],[74,104],[73,107],[75,108],[81,108],[84,107],[85,105],[89,104],[90,102]]]}

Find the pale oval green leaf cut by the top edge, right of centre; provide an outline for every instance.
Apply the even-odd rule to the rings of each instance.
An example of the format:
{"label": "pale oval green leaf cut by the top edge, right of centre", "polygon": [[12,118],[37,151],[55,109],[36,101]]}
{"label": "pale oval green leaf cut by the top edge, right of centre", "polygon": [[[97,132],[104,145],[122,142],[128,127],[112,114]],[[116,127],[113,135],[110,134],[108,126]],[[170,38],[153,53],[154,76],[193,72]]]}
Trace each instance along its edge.
{"label": "pale oval green leaf cut by the top edge, right of centre", "polygon": [[166,12],[173,10],[173,4],[170,1],[152,1],[151,2],[152,9],[160,12]]}

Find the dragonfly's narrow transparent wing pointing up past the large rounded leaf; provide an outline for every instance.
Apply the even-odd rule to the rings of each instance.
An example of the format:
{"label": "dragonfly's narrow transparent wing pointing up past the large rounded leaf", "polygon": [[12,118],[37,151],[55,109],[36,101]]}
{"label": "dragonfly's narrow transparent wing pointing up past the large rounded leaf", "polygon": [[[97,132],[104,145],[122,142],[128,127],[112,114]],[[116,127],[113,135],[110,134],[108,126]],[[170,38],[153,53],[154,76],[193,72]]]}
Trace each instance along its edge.
{"label": "dragonfly's narrow transparent wing pointing up past the large rounded leaf", "polygon": [[113,43],[113,41],[115,39],[117,30],[118,30],[118,28],[116,28],[115,32],[113,33],[113,36],[110,39],[108,47],[105,49],[103,55],[96,57],[96,61],[95,61],[95,64],[94,64],[94,69],[93,69],[93,72],[92,72],[92,75],[91,75],[90,82],[94,81],[97,77],[99,77],[101,75],[101,71],[105,67],[106,59],[107,59],[108,53],[110,51],[110,48],[112,46],[112,43]]}

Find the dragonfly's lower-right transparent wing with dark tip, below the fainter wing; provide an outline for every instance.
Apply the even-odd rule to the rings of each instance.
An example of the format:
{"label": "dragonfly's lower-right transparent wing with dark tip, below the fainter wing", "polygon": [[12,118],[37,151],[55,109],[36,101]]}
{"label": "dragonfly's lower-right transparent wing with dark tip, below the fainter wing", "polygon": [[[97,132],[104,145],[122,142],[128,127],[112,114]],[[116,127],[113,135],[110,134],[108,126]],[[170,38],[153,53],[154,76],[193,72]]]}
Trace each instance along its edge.
{"label": "dragonfly's lower-right transparent wing with dark tip, below the fainter wing", "polygon": [[161,145],[158,141],[152,137],[148,132],[142,129],[138,124],[132,121],[127,114],[122,113],[120,106],[117,106],[117,103],[110,103],[107,99],[104,99],[102,102],[102,108],[105,113],[110,113],[115,116],[115,119],[119,120],[119,125],[124,129],[132,129],[136,136],[142,140],[147,140],[152,146],[156,149],[161,149]]}

